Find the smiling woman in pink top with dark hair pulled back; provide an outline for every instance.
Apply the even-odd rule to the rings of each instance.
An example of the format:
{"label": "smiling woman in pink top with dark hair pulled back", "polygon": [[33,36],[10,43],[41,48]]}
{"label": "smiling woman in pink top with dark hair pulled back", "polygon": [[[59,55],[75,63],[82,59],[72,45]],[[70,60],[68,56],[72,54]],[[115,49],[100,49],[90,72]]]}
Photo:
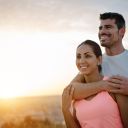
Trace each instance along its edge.
{"label": "smiling woman in pink top with dark hair pulled back", "polygon": [[[76,50],[76,66],[86,83],[105,79],[101,75],[102,52],[97,43],[86,40]],[[62,95],[62,111],[68,128],[123,128],[116,96],[102,91],[86,99],[71,102],[73,88]]]}

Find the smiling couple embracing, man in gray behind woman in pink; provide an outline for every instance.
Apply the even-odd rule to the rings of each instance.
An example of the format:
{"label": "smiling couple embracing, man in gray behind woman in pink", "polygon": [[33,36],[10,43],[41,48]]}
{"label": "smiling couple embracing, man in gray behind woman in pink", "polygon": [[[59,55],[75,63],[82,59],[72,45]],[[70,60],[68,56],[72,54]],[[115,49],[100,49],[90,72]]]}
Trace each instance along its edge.
{"label": "smiling couple embracing, man in gray behind woman in pink", "polygon": [[125,20],[107,12],[100,15],[100,22],[99,40],[106,54],[101,57],[94,41],[81,43],[76,50],[80,73],[62,94],[68,128],[128,128],[128,51],[122,44]]}

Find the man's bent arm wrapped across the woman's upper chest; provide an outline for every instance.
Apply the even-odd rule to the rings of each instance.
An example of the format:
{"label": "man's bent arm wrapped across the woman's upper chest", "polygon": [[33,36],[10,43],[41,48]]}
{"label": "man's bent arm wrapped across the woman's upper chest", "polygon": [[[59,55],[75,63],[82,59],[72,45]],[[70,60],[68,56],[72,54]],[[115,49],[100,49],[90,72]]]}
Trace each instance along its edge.
{"label": "man's bent arm wrapped across the woman's upper chest", "polygon": [[86,83],[84,81],[84,76],[82,74],[78,74],[71,81],[69,86],[75,89],[73,94],[73,99],[78,100],[78,99],[87,98],[91,95],[97,94],[104,90],[109,91],[110,89],[113,89],[113,87],[110,87],[109,84],[111,83],[109,83],[107,80]]}

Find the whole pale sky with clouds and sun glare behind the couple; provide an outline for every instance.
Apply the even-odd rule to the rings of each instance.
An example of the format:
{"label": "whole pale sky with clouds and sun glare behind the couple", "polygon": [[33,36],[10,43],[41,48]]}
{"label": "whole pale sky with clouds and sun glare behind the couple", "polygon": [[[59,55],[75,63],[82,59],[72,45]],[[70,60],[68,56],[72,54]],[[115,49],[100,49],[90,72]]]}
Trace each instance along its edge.
{"label": "whole pale sky with clouds and sun glare behind the couple", "polygon": [[127,0],[0,0],[0,98],[61,95],[78,73],[77,45],[99,43],[99,14],[121,13],[127,26],[127,7]]}

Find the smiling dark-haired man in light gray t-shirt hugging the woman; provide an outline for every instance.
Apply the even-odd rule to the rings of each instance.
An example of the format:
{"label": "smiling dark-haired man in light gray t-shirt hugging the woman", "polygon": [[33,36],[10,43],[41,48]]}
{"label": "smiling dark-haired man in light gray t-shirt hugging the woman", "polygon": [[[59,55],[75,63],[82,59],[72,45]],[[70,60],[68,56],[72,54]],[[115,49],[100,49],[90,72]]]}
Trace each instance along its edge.
{"label": "smiling dark-haired man in light gray t-shirt hugging the woman", "polygon": [[[123,47],[122,39],[125,34],[125,20],[118,13],[103,13],[100,15],[99,40],[105,47],[102,72],[108,80],[83,84],[82,75],[78,74],[69,86],[75,88],[73,98],[82,99],[100,91],[120,93],[117,100],[121,102],[120,109],[124,110],[122,122],[128,128],[128,51]],[[84,86],[83,86],[84,85]]]}

